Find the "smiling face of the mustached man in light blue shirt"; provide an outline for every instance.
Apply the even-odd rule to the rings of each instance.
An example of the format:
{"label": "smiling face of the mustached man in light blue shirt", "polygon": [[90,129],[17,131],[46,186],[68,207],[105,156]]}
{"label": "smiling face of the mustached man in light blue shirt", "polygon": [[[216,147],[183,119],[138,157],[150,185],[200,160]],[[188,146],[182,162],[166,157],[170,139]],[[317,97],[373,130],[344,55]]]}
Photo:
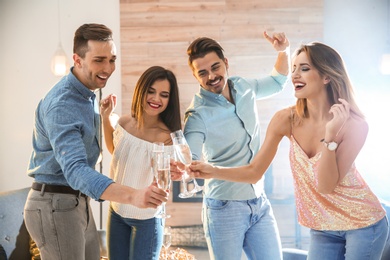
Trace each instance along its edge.
{"label": "smiling face of the mustached man in light blue shirt", "polygon": [[215,52],[192,61],[192,72],[205,90],[221,94],[228,80],[228,61],[220,59]]}

